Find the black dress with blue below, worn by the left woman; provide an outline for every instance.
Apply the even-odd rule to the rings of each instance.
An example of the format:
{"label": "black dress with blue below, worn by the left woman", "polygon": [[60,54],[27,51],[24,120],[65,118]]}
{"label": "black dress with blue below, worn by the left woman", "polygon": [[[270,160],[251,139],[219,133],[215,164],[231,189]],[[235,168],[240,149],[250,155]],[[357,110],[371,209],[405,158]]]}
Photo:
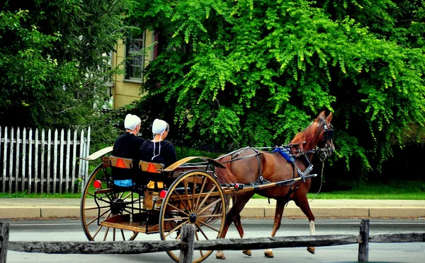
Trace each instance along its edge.
{"label": "black dress with blue below, worn by the left woman", "polygon": [[[126,132],[115,140],[115,144],[113,145],[113,156],[130,158],[133,159],[133,163],[137,164],[141,159],[140,146],[142,146],[143,142],[145,142],[145,139],[142,137],[137,137],[135,134]],[[137,165],[133,165],[133,170],[117,168],[113,170],[112,178],[115,185],[131,186],[131,180],[136,173]]]}

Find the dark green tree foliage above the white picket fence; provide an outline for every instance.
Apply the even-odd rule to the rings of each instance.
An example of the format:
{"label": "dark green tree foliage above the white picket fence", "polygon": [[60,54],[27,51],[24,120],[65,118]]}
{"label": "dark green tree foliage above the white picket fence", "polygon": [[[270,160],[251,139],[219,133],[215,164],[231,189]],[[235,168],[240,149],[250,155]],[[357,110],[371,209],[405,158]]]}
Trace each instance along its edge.
{"label": "dark green tree foliage above the white picket fence", "polygon": [[0,4],[1,124],[89,124],[88,116],[108,105],[109,54],[123,38],[129,6],[130,0]]}

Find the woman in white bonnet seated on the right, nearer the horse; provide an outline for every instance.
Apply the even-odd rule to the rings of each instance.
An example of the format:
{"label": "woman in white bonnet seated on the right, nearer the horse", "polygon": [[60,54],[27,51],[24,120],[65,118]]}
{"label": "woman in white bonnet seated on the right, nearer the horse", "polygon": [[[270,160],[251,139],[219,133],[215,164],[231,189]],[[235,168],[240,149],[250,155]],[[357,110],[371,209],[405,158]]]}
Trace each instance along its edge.
{"label": "woman in white bonnet seated on the right, nearer the horse", "polygon": [[145,141],[140,148],[142,160],[162,163],[164,167],[175,163],[177,158],[174,146],[170,141],[165,140],[169,134],[169,124],[162,119],[155,119],[152,124],[152,134],[154,137],[152,141]]}

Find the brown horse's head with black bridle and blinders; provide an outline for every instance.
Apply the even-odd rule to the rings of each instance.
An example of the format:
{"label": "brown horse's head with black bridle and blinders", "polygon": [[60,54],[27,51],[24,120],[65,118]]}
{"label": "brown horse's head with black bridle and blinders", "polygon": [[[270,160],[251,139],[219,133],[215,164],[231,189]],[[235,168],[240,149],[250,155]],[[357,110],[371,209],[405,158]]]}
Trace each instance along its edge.
{"label": "brown horse's head with black bridle and blinders", "polygon": [[319,136],[319,142],[317,146],[319,147],[320,158],[323,160],[327,158],[327,156],[331,156],[331,154],[335,151],[334,146],[334,129],[332,129],[332,113],[330,113],[327,117],[324,115],[324,111],[320,112],[319,117],[314,122],[317,122],[317,133]]}

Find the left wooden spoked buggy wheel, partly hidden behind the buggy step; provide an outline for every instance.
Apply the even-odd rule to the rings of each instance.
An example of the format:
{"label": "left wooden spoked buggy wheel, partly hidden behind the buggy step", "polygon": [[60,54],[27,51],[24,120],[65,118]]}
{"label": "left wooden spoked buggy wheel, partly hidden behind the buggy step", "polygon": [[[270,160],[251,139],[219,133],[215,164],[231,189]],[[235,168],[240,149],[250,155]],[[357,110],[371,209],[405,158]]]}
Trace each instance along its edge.
{"label": "left wooden spoked buggy wheel, partly hidden behind the buggy step", "polygon": [[103,167],[101,163],[89,176],[81,195],[80,216],[84,233],[87,239],[95,241],[134,240],[138,234],[135,231],[101,226],[102,221],[132,214],[132,209],[139,207],[138,199],[133,196],[132,200],[131,192],[115,192],[111,187],[111,168]]}

